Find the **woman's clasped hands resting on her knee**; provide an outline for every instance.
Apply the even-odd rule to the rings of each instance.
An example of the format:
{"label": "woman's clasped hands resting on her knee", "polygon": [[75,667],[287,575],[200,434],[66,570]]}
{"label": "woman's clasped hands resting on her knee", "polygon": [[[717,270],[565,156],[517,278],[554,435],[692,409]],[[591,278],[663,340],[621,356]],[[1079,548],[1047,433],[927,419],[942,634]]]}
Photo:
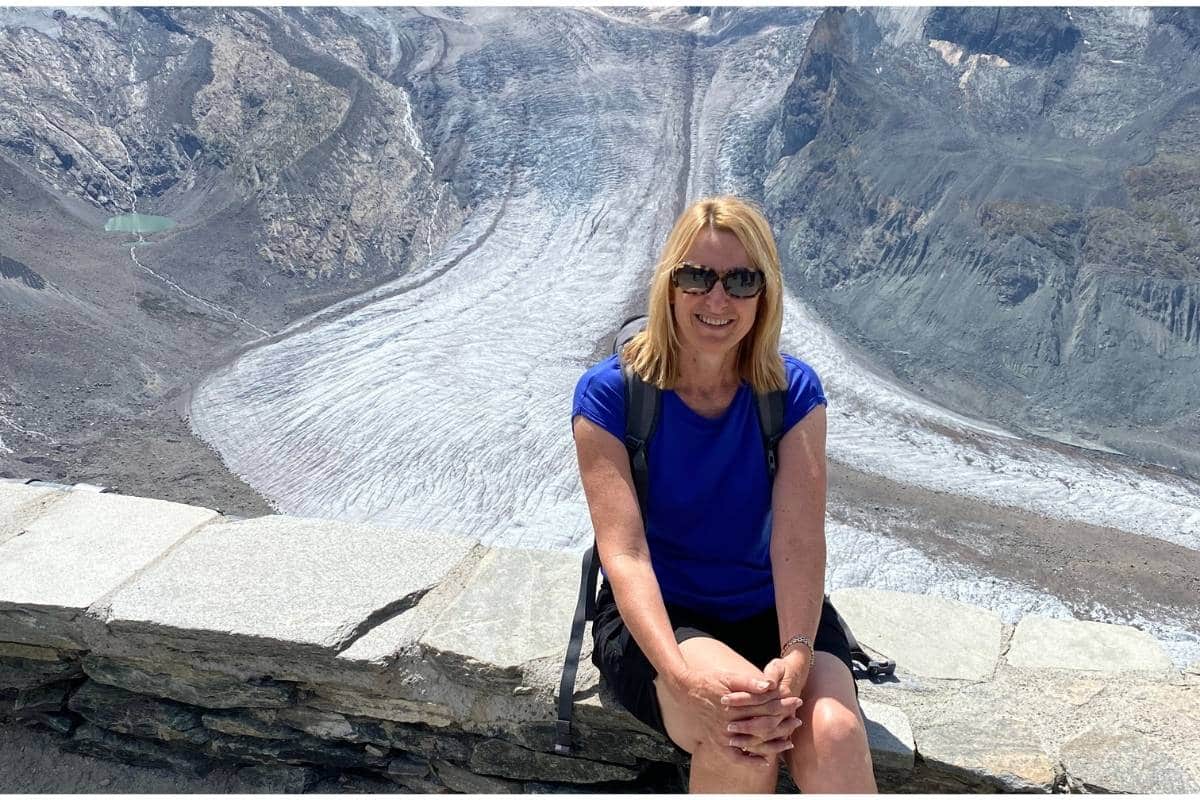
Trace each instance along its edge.
{"label": "woman's clasped hands resting on her knee", "polygon": [[[791,747],[786,736],[763,740],[739,735],[730,728],[763,714],[778,715],[775,727],[787,726],[787,720],[794,718],[798,698],[781,698],[776,682],[757,669],[744,673],[688,669],[668,682],[668,691],[676,694],[680,705],[692,709],[704,742],[733,762],[767,765]],[[731,704],[730,697],[744,699]]]}

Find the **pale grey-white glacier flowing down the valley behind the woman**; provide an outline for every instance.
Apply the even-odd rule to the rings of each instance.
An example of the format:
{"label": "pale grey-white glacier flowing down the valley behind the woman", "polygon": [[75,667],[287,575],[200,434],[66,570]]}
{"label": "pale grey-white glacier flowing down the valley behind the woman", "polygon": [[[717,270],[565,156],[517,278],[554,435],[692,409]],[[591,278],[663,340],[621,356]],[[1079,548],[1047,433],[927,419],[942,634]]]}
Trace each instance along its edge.
{"label": "pale grey-white glacier flowing down the valley behind the woman", "polygon": [[[575,381],[640,302],[685,199],[748,191],[754,132],[778,112],[808,30],[712,46],[702,29],[572,10],[472,10],[439,24],[444,49],[421,64],[461,85],[448,102],[470,119],[480,174],[502,179],[478,187],[458,234],[377,300],[320,314],[210,375],[192,425],[284,513],[577,548],[592,529],[570,435]],[[541,58],[552,66],[529,68]],[[472,100],[484,73],[503,76],[486,104]],[[856,363],[794,296],[784,345],[824,380],[833,459],[1200,549],[1194,485],[941,409]],[[1009,621],[1072,613],[1037,589],[931,563],[886,530],[832,523],[829,542],[830,588],[929,591]],[[1200,658],[1186,621],[1111,621],[1142,625],[1178,662]]]}

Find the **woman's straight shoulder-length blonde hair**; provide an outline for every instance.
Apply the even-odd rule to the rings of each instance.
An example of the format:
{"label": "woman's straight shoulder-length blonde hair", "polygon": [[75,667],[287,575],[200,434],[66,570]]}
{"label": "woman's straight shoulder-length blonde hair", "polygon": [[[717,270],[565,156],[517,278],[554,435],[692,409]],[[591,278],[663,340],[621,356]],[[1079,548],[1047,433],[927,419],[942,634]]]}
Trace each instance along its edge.
{"label": "woman's straight shoulder-length blonde hair", "polygon": [[784,278],[775,237],[757,206],[731,194],[697,200],[676,219],[650,281],[649,321],[646,330],[629,341],[622,357],[642,380],[659,389],[673,389],[679,380],[679,337],[671,309],[671,272],[706,230],[726,230],[737,236],[750,257],[746,266],[762,270],[767,278],[766,289],[758,295],[754,327],[738,344],[738,377],[756,392],[786,389],[784,361],[779,356]]}

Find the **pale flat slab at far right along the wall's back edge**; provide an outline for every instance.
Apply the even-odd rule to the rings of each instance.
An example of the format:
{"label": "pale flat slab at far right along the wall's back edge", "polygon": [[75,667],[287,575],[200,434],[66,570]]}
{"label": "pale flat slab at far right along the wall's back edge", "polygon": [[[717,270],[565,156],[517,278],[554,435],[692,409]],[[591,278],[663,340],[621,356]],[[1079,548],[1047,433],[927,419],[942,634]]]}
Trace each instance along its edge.
{"label": "pale flat slab at far right along the wall's back edge", "polygon": [[1124,625],[1030,614],[1013,633],[1008,663],[1026,669],[1153,672],[1165,675],[1171,657],[1145,631]]}

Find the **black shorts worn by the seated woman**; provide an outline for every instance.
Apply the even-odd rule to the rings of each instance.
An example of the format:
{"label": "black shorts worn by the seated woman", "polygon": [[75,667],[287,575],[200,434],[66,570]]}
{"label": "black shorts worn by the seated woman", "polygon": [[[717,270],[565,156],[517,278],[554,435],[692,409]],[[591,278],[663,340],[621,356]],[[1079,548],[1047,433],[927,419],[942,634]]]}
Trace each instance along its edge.
{"label": "black shorts worn by the seated woman", "polygon": [[[666,607],[671,626],[674,628],[676,642],[686,642],[701,636],[709,637],[730,645],[760,669],[779,655],[779,618],[774,607],[737,622],[726,622],[672,603],[666,603]],[[635,717],[666,735],[662,709],[654,691],[658,670],[625,627],[607,581],[600,587],[600,595],[596,597],[592,640],[594,643],[592,662],[604,675],[620,704]],[[836,612],[828,599],[821,607],[821,622],[817,625],[814,650],[838,656],[846,668],[852,670],[850,642],[846,640],[846,634],[838,624]],[[854,691],[858,691],[857,685]]]}

